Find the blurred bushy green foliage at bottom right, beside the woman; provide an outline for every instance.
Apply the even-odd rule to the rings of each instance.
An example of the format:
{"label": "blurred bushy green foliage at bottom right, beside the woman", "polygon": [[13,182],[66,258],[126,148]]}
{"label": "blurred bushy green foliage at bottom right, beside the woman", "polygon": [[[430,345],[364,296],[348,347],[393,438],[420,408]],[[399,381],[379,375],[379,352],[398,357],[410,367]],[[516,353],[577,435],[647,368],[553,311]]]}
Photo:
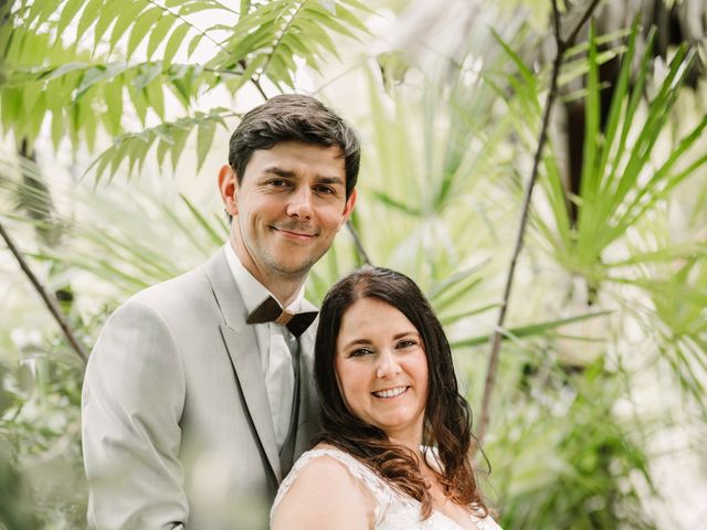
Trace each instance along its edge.
{"label": "blurred bushy green foliage at bottom right, beside the woman", "polygon": [[[507,528],[655,529],[639,491],[655,494],[641,439],[615,417],[622,389],[601,365],[508,396],[486,451]],[[503,424],[503,425],[500,425]],[[623,480],[631,474],[632,480]]]}

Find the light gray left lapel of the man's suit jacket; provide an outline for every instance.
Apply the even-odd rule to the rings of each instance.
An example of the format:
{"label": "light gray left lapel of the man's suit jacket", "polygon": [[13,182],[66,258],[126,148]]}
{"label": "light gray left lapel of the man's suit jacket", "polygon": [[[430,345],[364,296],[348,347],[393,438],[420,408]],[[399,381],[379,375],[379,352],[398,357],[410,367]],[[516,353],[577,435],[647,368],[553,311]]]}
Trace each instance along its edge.
{"label": "light gray left lapel of the man's suit jacket", "polygon": [[224,321],[220,324],[221,336],[231,358],[239,388],[245,400],[255,434],[279,483],[282,480],[279,455],[255,331],[245,324],[245,305],[229,269],[223,250],[205,264],[205,272],[223,314]]}

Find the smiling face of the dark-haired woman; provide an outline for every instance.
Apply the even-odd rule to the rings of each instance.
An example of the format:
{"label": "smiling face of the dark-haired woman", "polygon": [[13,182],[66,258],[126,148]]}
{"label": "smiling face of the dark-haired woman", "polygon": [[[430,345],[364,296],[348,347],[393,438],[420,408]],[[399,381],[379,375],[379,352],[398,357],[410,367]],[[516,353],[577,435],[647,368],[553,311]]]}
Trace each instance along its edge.
{"label": "smiling face of the dark-haired woman", "polygon": [[420,444],[428,359],[420,333],[393,306],[361,298],[341,318],[334,363],[349,410],[391,438]]}

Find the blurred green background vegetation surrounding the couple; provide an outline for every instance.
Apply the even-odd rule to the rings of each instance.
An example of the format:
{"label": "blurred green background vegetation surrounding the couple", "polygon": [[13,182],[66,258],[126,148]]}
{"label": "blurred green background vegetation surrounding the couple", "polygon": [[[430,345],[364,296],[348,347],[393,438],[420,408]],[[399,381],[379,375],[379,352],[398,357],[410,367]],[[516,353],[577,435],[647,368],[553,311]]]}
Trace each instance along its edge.
{"label": "blurred green background vegetation surrounding the couple", "polygon": [[229,131],[292,91],[365,146],[358,244],[308,296],[366,261],[421,284],[488,412],[502,526],[705,528],[707,10],[553,6],[0,1],[0,528],[83,528],[82,356],[223,243]]}

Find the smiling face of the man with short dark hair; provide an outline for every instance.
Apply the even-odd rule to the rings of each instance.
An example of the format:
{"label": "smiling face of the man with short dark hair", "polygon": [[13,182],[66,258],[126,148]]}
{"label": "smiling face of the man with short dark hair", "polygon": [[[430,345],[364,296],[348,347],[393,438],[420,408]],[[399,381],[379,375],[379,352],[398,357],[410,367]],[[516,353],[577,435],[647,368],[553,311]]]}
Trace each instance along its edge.
{"label": "smiling face of the man with short dark hair", "polygon": [[346,199],[340,155],[338,147],[283,141],[254,151],[240,184],[222,168],[231,241],[266,287],[270,280],[304,278],[349,218],[356,192]]}

